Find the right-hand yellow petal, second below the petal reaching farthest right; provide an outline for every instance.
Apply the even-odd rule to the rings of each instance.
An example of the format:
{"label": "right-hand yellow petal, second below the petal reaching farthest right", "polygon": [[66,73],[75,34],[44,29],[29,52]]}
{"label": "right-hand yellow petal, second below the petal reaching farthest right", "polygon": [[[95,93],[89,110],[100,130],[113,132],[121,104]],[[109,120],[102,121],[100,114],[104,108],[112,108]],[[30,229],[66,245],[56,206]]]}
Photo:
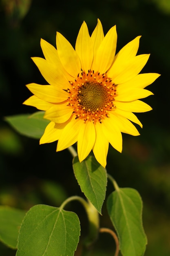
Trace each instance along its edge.
{"label": "right-hand yellow petal, second below the petal reaching farthest right", "polygon": [[129,102],[121,102],[121,101],[115,101],[116,108],[119,108],[124,111],[130,111],[130,112],[147,112],[152,110],[152,108],[146,104],[143,101],[129,101]]}

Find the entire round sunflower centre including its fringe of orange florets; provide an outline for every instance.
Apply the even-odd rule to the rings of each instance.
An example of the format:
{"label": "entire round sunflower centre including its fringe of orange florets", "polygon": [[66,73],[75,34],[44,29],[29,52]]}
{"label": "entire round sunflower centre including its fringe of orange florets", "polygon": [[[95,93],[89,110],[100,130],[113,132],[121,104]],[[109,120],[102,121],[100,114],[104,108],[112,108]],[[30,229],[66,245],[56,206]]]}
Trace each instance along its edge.
{"label": "entire round sunflower centre including its fringe of orange florets", "polygon": [[82,71],[74,81],[69,82],[68,106],[73,108],[75,119],[83,119],[84,123],[88,120],[102,123],[115,109],[116,85],[107,74]]}

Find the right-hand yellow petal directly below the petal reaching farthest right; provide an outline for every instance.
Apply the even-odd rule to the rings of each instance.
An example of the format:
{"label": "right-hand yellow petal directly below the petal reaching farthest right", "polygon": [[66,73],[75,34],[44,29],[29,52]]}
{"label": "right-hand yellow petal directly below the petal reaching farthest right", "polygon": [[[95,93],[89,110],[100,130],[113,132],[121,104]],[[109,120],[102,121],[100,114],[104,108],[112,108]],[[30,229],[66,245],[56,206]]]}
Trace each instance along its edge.
{"label": "right-hand yellow petal directly below the petal reaching farthest right", "polygon": [[123,89],[120,88],[119,85],[117,86],[117,96],[115,97],[116,101],[135,101],[137,99],[143,99],[150,95],[153,95],[152,92],[146,89],[138,89],[138,88],[130,88],[130,89]]}

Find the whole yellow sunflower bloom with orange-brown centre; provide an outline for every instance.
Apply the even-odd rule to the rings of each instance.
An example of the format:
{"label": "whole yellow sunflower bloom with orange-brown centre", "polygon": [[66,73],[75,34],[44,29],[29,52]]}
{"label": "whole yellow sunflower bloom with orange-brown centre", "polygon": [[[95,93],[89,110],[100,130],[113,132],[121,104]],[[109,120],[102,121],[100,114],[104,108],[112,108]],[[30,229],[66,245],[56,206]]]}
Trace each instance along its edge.
{"label": "whole yellow sunflower bloom with orange-brown centre", "polygon": [[57,142],[57,151],[77,142],[79,161],[93,150],[106,166],[109,143],[122,151],[121,132],[137,136],[131,123],[142,127],[132,112],[152,108],[140,101],[153,93],[144,89],[159,74],[139,74],[150,54],[136,55],[140,36],[116,55],[117,32],[112,27],[104,36],[100,20],[92,35],[83,22],[75,44],[57,32],[57,49],[45,40],[40,44],[45,58],[32,58],[48,85],[26,85],[34,94],[25,105],[44,110],[46,126],[40,144]]}

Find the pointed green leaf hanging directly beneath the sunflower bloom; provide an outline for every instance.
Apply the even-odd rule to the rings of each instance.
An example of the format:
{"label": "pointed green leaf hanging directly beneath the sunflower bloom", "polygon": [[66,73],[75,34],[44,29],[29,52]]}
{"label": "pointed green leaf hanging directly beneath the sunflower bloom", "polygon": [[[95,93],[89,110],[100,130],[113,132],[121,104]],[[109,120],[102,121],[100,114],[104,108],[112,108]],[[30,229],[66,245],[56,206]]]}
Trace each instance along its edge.
{"label": "pointed green leaf hanging directly beneath the sunflower bloom", "polygon": [[82,192],[101,214],[106,196],[106,169],[96,161],[95,157],[88,156],[81,163],[78,157],[75,157],[73,170]]}

